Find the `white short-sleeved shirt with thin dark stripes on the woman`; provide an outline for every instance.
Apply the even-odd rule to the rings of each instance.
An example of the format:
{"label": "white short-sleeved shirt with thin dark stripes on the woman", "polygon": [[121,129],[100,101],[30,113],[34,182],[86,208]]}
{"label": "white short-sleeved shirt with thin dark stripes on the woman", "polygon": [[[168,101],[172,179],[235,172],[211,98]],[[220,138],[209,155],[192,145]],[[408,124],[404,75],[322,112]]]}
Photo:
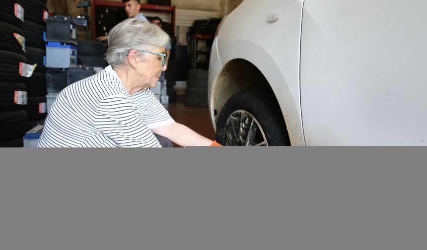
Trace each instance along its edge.
{"label": "white short-sleeved shirt with thin dark stripes on the woman", "polygon": [[161,147],[150,128],[174,120],[149,88],[131,96],[111,65],[58,94],[38,147]]}

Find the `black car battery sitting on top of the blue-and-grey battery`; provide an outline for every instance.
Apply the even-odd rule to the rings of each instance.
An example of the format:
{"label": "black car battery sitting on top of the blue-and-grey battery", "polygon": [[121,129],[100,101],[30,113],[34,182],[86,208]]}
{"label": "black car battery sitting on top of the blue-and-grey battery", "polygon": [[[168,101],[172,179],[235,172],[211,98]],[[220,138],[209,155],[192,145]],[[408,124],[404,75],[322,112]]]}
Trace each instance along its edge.
{"label": "black car battery sitting on top of the blue-and-grey battery", "polygon": [[77,31],[70,16],[49,16],[46,20],[48,41],[77,45]]}

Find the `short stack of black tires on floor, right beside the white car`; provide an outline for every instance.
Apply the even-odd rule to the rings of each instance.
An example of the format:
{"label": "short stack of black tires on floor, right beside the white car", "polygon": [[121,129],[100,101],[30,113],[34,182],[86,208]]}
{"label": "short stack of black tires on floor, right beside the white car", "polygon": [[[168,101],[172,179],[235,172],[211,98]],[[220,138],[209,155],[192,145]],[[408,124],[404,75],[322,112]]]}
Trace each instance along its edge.
{"label": "short stack of black tires on floor, right beside the white car", "polygon": [[191,107],[208,106],[208,70],[189,69],[187,71],[185,105]]}

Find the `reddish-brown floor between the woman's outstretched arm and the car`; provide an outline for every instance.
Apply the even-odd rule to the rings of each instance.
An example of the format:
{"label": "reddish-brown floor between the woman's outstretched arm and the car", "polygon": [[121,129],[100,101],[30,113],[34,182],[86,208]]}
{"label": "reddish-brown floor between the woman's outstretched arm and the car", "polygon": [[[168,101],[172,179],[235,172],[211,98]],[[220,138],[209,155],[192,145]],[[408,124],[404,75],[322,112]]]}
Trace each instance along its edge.
{"label": "reddish-brown floor between the woman's outstretched arm and the car", "polygon": [[[188,107],[184,104],[185,96],[177,96],[176,103],[167,104],[166,109],[171,117],[180,124],[186,125],[209,139],[215,139],[215,131],[209,117],[208,107]],[[179,147],[174,144],[175,147]]]}

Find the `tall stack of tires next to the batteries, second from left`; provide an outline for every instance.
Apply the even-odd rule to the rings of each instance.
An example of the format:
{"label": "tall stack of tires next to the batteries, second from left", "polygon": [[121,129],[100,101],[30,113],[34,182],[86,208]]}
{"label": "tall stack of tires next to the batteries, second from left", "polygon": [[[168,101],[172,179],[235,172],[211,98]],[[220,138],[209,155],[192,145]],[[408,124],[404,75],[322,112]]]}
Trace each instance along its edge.
{"label": "tall stack of tires next to the batteries, second from left", "polygon": [[29,128],[43,124],[46,109],[46,19],[48,8],[46,0],[22,0],[25,9],[22,26],[25,36],[25,57],[28,64],[36,64],[31,77],[26,79],[28,90]]}

